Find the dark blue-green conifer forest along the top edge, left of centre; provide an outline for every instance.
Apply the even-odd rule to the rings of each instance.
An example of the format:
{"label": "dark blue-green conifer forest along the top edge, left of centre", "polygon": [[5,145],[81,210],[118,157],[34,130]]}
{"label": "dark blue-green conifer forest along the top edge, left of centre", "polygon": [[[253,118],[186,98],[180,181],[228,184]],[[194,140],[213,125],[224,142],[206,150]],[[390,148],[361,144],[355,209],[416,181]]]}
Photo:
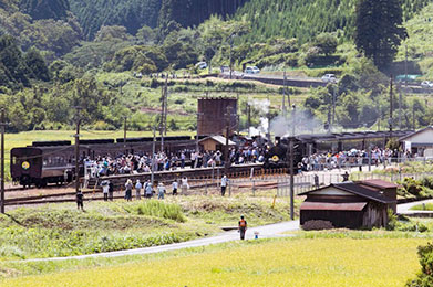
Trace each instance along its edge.
{"label": "dark blue-green conifer forest along the top edge, left of centre", "polygon": [[140,28],[166,28],[174,21],[182,26],[198,25],[212,14],[234,14],[247,0],[70,0],[86,39],[102,25],[122,25],[135,34]]}

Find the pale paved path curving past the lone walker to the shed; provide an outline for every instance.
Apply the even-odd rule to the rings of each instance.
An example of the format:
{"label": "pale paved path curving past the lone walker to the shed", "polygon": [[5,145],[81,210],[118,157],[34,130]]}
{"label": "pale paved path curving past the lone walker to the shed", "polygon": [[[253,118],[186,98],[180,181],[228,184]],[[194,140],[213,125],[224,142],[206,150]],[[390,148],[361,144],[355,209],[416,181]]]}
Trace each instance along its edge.
{"label": "pale paved path curving past the lone walker to the shed", "polygon": [[[276,224],[248,228],[246,238],[252,240],[255,236],[254,234],[255,232],[259,232],[260,238],[282,237],[288,235],[281,233],[288,231],[296,231],[296,230],[299,230],[299,221],[276,223]],[[48,261],[53,262],[53,261],[68,261],[68,259],[85,259],[85,258],[95,258],[95,257],[117,257],[117,256],[125,256],[125,255],[141,255],[141,254],[151,254],[151,253],[158,253],[158,252],[177,251],[182,248],[206,246],[210,244],[218,244],[218,243],[225,243],[225,242],[237,241],[237,240],[239,240],[239,234],[237,233],[237,231],[230,231],[213,237],[162,245],[162,246],[137,248],[137,249],[130,249],[130,251],[97,253],[97,254],[89,254],[89,255],[80,255],[80,256],[70,256],[70,257],[37,258],[37,259],[28,259],[24,262],[48,262]]]}

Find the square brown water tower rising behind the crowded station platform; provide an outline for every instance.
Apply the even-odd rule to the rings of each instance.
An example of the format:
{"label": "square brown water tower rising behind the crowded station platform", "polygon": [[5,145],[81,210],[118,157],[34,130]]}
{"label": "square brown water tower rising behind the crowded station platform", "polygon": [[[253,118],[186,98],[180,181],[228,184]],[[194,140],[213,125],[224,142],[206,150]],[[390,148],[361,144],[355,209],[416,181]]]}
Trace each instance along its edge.
{"label": "square brown water tower rising behind the crowded station platform", "polygon": [[[230,136],[237,130],[237,98],[198,98],[197,128],[199,136],[225,135],[229,117]],[[228,115],[229,114],[229,115]]]}

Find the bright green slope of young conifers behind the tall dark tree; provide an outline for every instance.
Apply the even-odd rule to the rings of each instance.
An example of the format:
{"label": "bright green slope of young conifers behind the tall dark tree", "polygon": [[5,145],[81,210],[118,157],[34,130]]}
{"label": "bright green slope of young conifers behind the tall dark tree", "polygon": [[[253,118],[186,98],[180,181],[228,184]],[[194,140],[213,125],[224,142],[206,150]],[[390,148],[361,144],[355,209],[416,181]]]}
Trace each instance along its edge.
{"label": "bright green slope of young conifers behind the tall dark tree", "polygon": [[[410,19],[429,0],[404,0],[403,15]],[[237,18],[251,21],[249,42],[274,36],[297,38],[305,43],[322,32],[354,33],[357,0],[251,0],[237,12]]]}

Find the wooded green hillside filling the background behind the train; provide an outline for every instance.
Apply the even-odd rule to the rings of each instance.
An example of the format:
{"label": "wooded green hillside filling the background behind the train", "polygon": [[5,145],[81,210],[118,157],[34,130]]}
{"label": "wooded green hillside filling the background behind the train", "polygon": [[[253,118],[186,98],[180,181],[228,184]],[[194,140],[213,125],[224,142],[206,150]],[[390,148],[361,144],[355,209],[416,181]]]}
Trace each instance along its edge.
{"label": "wooded green hillside filling the background behind the train", "polygon": [[[395,22],[401,33],[384,50],[391,53],[382,64],[365,45],[358,46],[362,29],[357,26],[357,4],[361,1],[372,0],[1,1],[0,104],[7,106],[14,131],[68,128],[72,107],[80,104],[92,128],[120,128],[123,115],[128,114],[142,123],[134,124],[140,129],[155,115],[141,108],[158,110],[161,105],[162,82],[148,76],[217,73],[217,66],[228,65],[231,55],[236,70],[254,64],[265,73],[337,74],[338,85],[291,91],[303,93],[306,114],[321,123],[334,119],[343,128],[384,126],[390,105],[385,67],[396,57],[404,59],[404,45],[414,65],[420,63],[420,73],[433,75],[429,41],[433,4],[393,0],[395,6],[390,7],[401,7]],[[393,29],[393,23],[386,28]],[[367,41],[374,43],[374,35]],[[206,71],[196,66],[199,61],[208,63]],[[243,82],[171,83],[171,108],[194,119],[194,100],[186,97],[189,92],[248,88],[260,91]],[[338,115],[329,111],[332,100],[338,102]],[[402,127],[433,120],[429,103],[415,97],[405,98],[399,111]],[[171,115],[172,128],[194,129],[190,123],[181,124],[185,120],[178,114]],[[241,120],[246,121],[244,116]]]}

